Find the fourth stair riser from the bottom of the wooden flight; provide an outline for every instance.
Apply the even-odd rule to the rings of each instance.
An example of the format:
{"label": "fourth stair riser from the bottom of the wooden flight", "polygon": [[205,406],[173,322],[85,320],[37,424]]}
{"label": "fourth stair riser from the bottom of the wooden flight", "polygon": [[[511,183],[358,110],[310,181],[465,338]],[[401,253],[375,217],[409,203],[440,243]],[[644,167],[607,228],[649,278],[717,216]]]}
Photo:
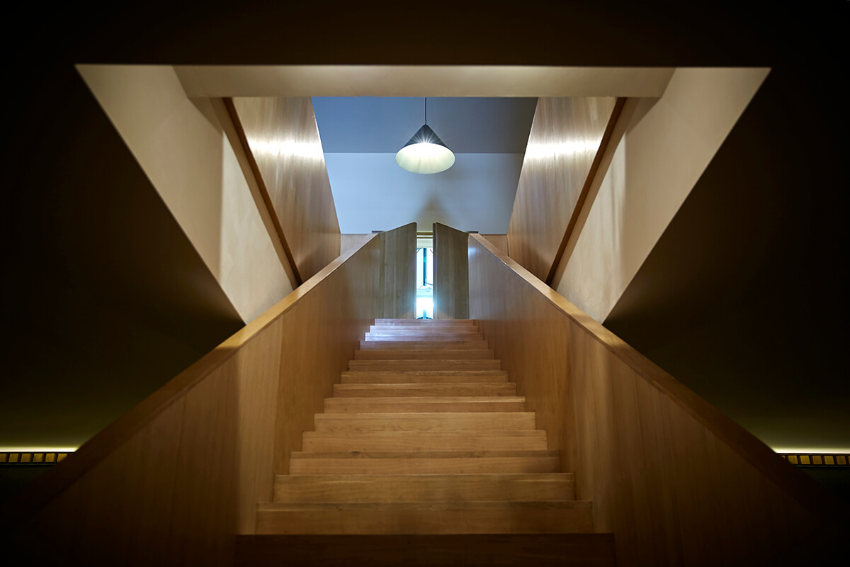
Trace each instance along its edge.
{"label": "fourth stair riser from the bottom of the wooden flight", "polygon": [[298,458],[289,462],[292,474],[473,474],[558,473],[555,456],[494,456],[462,458]]}

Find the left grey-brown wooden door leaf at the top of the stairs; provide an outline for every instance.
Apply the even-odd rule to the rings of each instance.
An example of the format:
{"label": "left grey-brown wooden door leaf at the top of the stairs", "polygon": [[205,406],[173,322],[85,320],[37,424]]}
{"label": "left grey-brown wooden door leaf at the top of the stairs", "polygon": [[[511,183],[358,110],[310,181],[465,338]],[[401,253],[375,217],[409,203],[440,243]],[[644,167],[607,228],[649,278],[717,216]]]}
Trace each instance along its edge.
{"label": "left grey-brown wooden door leaf at the top of the stairs", "polygon": [[416,223],[381,233],[382,318],[413,319],[416,307]]}

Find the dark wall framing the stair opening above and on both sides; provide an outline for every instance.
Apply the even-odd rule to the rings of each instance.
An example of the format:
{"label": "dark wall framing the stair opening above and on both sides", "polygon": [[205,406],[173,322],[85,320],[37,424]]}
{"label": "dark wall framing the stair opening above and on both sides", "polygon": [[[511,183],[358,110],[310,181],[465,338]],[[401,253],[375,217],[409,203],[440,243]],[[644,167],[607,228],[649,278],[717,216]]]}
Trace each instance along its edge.
{"label": "dark wall framing the stair opening above and on both sides", "polygon": [[[332,1],[10,8],[7,21],[24,33],[0,40],[14,84],[3,91],[0,171],[12,204],[3,302],[18,335],[6,343],[16,366],[2,379],[3,410],[18,408],[11,419],[21,434],[64,431],[63,411],[83,401],[123,400],[112,415],[239,325],[71,66],[110,62],[773,67],[754,100],[765,110],[746,111],[751,125],[732,134],[742,138],[738,150],[724,146],[683,207],[690,216],[677,216],[700,230],[665,235],[658,250],[667,241],[677,252],[653,252],[609,326],[697,391],[728,402],[740,420],[735,400],[748,405],[788,390],[772,378],[780,366],[794,369],[785,371],[795,377],[791,392],[812,394],[807,407],[832,404],[844,396],[834,349],[846,336],[847,310],[847,113],[837,96],[847,10],[456,2],[438,16],[419,5]],[[718,331],[731,332],[725,347],[708,340]],[[779,358],[769,372],[760,370],[766,355]]]}

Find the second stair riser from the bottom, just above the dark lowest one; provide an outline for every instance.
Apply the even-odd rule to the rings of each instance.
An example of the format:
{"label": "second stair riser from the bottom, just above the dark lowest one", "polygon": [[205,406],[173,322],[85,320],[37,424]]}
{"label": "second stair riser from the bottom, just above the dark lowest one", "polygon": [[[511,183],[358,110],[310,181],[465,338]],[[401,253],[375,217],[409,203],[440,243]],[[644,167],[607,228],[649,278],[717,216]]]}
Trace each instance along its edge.
{"label": "second stair riser from the bottom, just above the dark lowest one", "polygon": [[592,533],[590,510],[315,510],[257,514],[258,534]]}

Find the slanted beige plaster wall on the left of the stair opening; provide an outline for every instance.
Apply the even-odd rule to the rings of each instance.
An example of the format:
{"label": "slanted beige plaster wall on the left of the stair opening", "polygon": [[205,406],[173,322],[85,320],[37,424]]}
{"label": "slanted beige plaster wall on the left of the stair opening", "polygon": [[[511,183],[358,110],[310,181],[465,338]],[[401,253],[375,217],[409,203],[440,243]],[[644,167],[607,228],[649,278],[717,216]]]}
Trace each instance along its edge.
{"label": "slanted beige plaster wall on the left of the stair opening", "polygon": [[242,319],[292,292],[218,122],[221,101],[190,99],[171,66],[77,70]]}

